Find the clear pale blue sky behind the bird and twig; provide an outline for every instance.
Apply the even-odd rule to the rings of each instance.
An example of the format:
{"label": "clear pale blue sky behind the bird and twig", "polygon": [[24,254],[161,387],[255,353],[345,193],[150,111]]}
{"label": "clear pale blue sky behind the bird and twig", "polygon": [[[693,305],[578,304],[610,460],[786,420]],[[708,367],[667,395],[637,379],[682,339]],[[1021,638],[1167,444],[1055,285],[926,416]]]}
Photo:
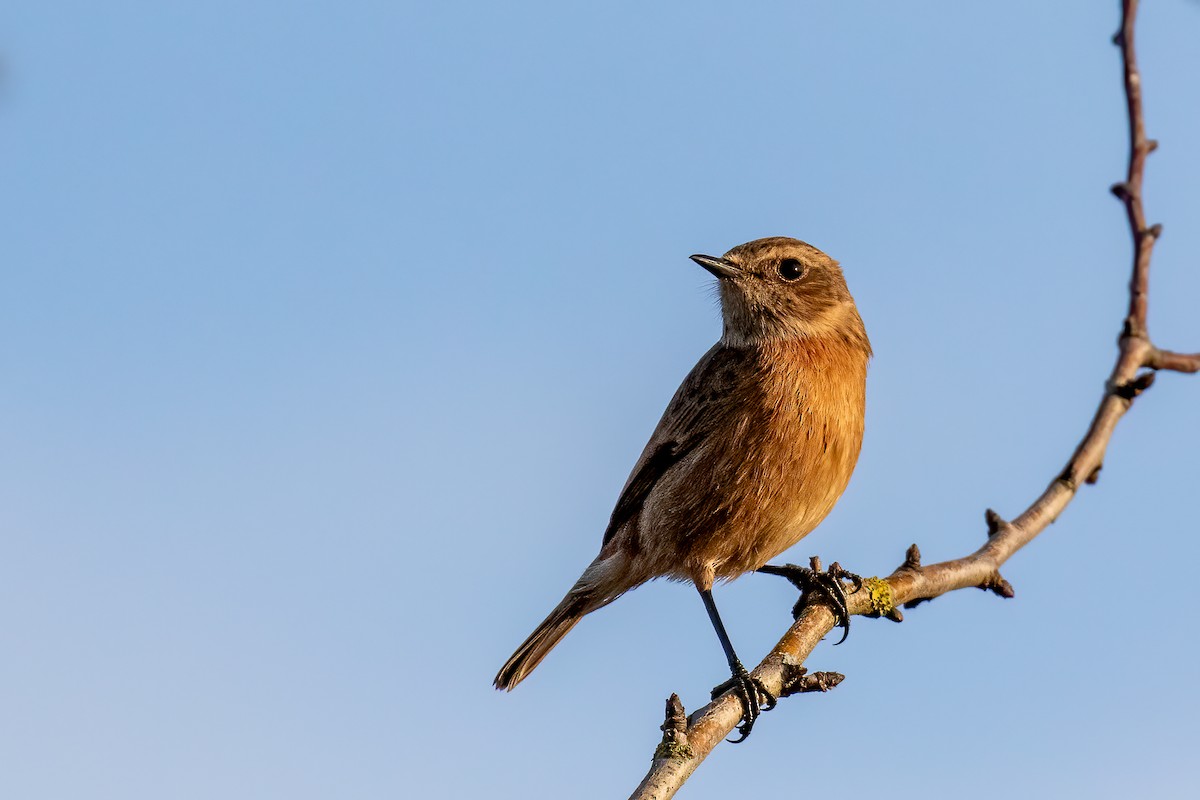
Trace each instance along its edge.
{"label": "clear pale blue sky behind the bird and twig", "polygon": [[[618,798],[726,676],[695,591],[496,669],[719,336],[690,253],[793,235],[875,344],[814,553],[1019,513],[1115,356],[1117,2],[0,10],[0,794]],[[1145,4],[1151,327],[1200,349],[1200,4]],[[1200,379],[1004,570],[857,620],[688,798],[1195,790]],[[757,661],[794,595],[719,588]]]}

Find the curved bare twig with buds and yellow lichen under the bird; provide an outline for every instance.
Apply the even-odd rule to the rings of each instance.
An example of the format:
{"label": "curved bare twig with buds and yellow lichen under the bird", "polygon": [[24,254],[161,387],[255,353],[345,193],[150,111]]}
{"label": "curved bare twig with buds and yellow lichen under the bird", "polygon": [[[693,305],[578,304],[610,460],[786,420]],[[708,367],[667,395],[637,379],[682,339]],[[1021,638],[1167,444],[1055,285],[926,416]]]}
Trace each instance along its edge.
{"label": "curved bare twig with buds and yellow lichen under the bird", "polygon": [[[1134,247],[1129,308],[1118,339],[1116,365],[1105,383],[1099,408],[1066,468],[1019,517],[1008,522],[989,510],[985,515],[988,541],[971,555],[952,561],[923,566],[920,552],[913,545],[908,548],[904,564],[892,575],[882,579],[870,578],[860,590],[850,595],[852,614],[889,616],[899,621],[900,606],[912,607],[923,600],[970,587],[1010,597],[1012,587],[1000,576],[1000,567],[1062,513],[1080,486],[1096,482],[1112,431],[1138,395],[1153,384],[1152,371],[1200,372],[1200,353],[1187,355],[1160,350],[1151,343],[1147,327],[1150,258],[1163,229],[1158,224],[1146,225],[1141,197],[1146,156],[1153,152],[1157,143],[1146,138],[1142,119],[1141,77],[1134,53],[1136,14],[1138,0],[1122,0],[1121,30],[1114,37],[1114,43],[1121,48],[1124,66],[1129,166],[1124,181],[1115,185],[1112,193],[1124,204]],[[833,630],[834,624],[834,614],[827,606],[808,604],[784,638],[754,670],[754,676],[776,696],[832,688],[838,681],[822,682],[817,678],[822,673],[805,675],[803,663],[822,637]],[[664,730],[672,741],[682,739],[686,742],[686,748],[680,751],[660,745],[649,774],[634,790],[631,800],[666,800],[674,795],[742,718],[742,702],[732,693],[694,712],[686,718],[686,726],[682,723],[683,705],[674,696],[672,700],[674,705],[668,705],[668,721],[664,724]],[[665,736],[664,744],[666,742]]]}

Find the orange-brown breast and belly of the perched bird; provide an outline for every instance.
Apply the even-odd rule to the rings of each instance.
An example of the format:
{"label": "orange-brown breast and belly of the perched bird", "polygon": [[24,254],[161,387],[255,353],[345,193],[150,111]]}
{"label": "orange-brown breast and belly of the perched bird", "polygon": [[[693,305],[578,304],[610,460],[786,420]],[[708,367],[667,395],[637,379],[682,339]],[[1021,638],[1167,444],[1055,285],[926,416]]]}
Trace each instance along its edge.
{"label": "orange-brown breast and belly of the perched bird", "polygon": [[792,342],[755,361],[730,398],[730,423],[656,504],[674,577],[730,579],[762,566],[824,519],[858,461],[865,354]]}

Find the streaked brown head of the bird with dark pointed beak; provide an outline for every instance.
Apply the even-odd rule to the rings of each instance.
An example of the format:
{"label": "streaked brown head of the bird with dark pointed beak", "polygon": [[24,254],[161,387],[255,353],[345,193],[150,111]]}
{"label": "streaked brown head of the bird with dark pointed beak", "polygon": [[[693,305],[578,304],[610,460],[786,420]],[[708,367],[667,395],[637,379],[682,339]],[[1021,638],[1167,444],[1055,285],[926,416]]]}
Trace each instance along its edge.
{"label": "streaked brown head of the bird with dark pointed beak", "polygon": [[841,267],[812,245],[772,236],[738,245],[720,258],[691,260],[718,278],[726,345],[832,337],[870,353]]}

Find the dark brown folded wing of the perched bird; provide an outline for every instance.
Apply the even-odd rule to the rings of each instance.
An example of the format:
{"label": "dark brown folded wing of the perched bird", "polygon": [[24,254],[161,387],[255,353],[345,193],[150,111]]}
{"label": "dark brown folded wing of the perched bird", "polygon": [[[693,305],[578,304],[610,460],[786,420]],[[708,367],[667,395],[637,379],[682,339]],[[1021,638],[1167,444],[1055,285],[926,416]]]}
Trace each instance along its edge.
{"label": "dark brown folded wing of the perched bird", "polygon": [[605,545],[641,513],[646,498],[672,467],[724,427],[736,409],[722,401],[745,374],[744,360],[744,350],[716,344],[688,373],[617,499],[604,534]]}

